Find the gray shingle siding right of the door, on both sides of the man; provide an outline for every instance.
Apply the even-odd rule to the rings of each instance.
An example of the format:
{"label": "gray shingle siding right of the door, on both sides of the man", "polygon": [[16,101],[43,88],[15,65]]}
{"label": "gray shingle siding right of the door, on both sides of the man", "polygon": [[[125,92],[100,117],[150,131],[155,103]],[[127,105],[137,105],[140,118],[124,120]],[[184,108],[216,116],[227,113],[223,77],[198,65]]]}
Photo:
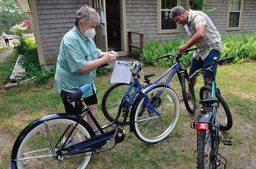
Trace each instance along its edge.
{"label": "gray shingle siding right of the door, on both sides of the man", "polygon": [[[143,33],[144,43],[148,40],[168,41],[188,38],[188,34],[181,26],[180,33],[157,34],[157,1],[155,0],[127,0],[126,26],[127,31]],[[181,6],[186,8],[186,1],[181,1]],[[240,31],[226,31],[228,0],[207,1],[207,7],[216,8],[207,12],[220,34],[250,33],[256,29],[256,3],[255,0],[244,0],[243,15]],[[140,36],[132,36],[132,44],[140,45]]]}

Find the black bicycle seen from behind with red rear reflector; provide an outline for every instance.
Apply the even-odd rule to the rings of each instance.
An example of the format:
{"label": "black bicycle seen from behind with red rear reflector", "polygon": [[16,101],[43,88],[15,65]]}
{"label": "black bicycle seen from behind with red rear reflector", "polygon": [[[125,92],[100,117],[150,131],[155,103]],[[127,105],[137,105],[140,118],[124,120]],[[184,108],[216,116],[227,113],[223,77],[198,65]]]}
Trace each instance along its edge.
{"label": "black bicycle seen from behind with red rear reflector", "polygon": [[200,98],[202,98],[200,101],[200,104],[202,104],[201,113],[196,121],[191,122],[191,128],[197,131],[196,152],[198,169],[215,169],[221,165],[225,168],[227,166],[227,160],[220,154],[219,145],[221,141],[224,145],[232,145],[232,143],[231,138],[221,138],[220,130],[232,128],[232,115],[227,103],[220,95],[220,89],[216,87],[212,68],[215,64],[232,59],[233,57],[227,57],[217,60],[216,57],[211,67],[197,70],[189,77],[189,79],[192,79],[204,71],[210,71],[212,76],[209,86],[203,86],[200,89]]}

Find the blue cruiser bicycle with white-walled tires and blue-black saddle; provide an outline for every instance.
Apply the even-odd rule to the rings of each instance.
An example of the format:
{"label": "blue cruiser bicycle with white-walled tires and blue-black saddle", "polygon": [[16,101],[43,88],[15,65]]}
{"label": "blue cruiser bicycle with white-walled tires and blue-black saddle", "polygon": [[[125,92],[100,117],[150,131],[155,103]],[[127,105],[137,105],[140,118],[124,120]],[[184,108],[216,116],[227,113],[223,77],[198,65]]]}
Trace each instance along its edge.
{"label": "blue cruiser bicycle with white-walled tires and blue-black saddle", "polygon": [[[180,114],[177,94],[166,84],[150,85],[146,89],[140,85],[137,74],[141,70],[141,62],[134,62],[132,76],[134,82],[126,92],[120,105],[124,106],[129,92],[135,86],[131,99],[125,103],[128,109],[132,105],[130,130],[143,142],[156,143],[166,138],[175,128]],[[13,168],[86,168],[93,153],[112,149],[116,143],[125,139],[125,121],[129,111],[124,115],[122,124],[116,119],[105,126],[100,126],[93,117],[81,96],[90,89],[90,85],[63,89],[61,97],[70,104],[81,101],[83,113],[51,114],[31,122],[22,130],[12,149],[11,166]],[[136,101],[133,99],[136,96]],[[132,104],[133,103],[133,104]],[[84,121],[88,114],[92,118],[100,135],[95,135],[90,125]],[[63,128],[67,126],[67,128]],[[111,126],[111,128],[109,128]],[[64,135],[68,133],[63,142]]]}

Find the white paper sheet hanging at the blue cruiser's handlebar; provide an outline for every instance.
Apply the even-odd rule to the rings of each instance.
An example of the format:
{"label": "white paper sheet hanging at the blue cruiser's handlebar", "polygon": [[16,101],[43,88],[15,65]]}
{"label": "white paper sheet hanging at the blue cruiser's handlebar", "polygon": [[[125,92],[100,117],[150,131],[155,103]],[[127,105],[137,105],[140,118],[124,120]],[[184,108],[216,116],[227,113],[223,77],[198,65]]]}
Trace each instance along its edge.
{"label": "white paper sheet hanging at the blue cruiser's handlebar", "polygon": [[132,75],[130,68],[131,65],[117,61],[110,82],[130,84]]}

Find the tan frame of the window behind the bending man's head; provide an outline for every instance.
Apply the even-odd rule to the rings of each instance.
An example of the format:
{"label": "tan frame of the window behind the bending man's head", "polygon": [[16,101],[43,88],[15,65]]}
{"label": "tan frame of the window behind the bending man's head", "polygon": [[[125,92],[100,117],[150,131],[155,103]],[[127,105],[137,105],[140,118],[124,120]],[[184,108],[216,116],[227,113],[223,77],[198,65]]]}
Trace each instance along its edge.
{"label": "tan frame of the window behind the bending man's head", "polygon": [[[181,0],[177,0],[177,4],[181,5]],[[161,30],[161,0],[157,0],[157,33],[158,34],[170,34],[180,33],[180,26],[177,24],[177,29],[165,29]]]}

